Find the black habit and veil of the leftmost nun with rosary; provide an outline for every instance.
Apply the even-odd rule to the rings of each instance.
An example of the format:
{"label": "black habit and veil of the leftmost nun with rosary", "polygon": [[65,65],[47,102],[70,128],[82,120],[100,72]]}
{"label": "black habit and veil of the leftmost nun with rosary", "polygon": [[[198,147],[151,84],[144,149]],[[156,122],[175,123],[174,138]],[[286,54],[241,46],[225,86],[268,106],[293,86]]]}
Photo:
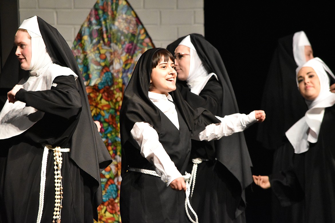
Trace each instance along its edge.
{"label": "black habit and veil of the leftmost nun with rosary", "polygon": [[[112,159],[93,123],[83,79],[71,49],[56,28],[40,17],[37,21],[53,62],[70,68],[78,78],[75,81],[73,76],[59,76],[54,80],[57,86],[51,90],[17,92],[18,100],[45,114],[20,135],[0,140],[0,221],[36,222],[43,148],[52,145],[70,148],[69,153],[62,155],[62,222],[75,219],[92,222],[92,216],[98,220],[97,207],[102,202],[100,171]],[[9,75],[4,71],[2,76]],[[53,163],[53,152],[49,151],[42,222],[53,220]]]}

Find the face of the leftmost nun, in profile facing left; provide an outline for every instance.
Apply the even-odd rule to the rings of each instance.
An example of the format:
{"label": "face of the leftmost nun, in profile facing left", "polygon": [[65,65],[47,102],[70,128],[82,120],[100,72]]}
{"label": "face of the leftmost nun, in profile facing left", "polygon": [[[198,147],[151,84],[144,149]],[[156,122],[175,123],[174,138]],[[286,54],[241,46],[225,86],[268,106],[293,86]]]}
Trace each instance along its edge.
{"label": "face of the leftmost nun, in profile facing left", "polygon": [[31,61],[31,37],[28,32],[18,30],[14,44],[16,46],[15,55],[20,62],[20,66],[23,70],[29,70]]}

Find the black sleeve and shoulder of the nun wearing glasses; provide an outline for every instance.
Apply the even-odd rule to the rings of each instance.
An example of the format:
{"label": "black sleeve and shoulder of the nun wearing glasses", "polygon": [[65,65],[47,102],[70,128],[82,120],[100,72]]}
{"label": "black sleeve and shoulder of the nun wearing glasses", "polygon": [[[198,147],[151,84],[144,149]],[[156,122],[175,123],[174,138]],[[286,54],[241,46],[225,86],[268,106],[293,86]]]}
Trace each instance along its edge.
{"label": "black sleeve and shoulder of the nun wearing glasses", "polygon": [[208,109],[213,114],[219,115],[223,91],[220,83],[212,76],[199,95],[191,92],[190,88],[185,84],[178,85],[185,101],[187,101],[193,109],[203,107]]}

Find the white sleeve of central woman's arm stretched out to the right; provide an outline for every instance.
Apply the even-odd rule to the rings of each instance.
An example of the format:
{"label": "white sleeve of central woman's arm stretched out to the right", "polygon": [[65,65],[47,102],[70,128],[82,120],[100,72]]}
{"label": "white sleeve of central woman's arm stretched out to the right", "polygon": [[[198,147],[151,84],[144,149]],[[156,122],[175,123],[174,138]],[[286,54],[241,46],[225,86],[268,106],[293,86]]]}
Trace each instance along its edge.
{"label": "white sleeve of central woman's arm stretched out to the right", "polygon": [[223,118],[218,116],[215,117],[221,122],[207,125],[205,130],[199,133],[199,138],[193,138],[200,141],[220,139],[223,136],[229,136],[236,132],[242,132],[257,121],[255,118],[255,111],[252,111],[249,115],[236,113],[226,115]]}

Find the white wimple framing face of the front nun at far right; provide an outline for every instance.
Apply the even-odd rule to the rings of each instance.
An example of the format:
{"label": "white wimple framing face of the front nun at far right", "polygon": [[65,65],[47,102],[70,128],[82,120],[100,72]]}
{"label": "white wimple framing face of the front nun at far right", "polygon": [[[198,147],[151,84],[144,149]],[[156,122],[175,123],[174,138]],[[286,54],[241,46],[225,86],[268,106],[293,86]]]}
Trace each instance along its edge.
{"label": "white wimple framing face of the front nun at far right", "polygon": [[[306,101],[308,111],[305,116],[289,128],[285,135],[294,148],[294,153],[308,151],[309,143],[316,143],[320,132],[325,108],[335,104],[335,94],[329,91],[330,81],[326,71],[331,77],[335,76],[329,67],[320,59],[314,58],[296,69],[296,74],[303,67],[312,67],[320,80],[320,93],[313,101]],[[298,82],[297,82],[298,85]]]}

